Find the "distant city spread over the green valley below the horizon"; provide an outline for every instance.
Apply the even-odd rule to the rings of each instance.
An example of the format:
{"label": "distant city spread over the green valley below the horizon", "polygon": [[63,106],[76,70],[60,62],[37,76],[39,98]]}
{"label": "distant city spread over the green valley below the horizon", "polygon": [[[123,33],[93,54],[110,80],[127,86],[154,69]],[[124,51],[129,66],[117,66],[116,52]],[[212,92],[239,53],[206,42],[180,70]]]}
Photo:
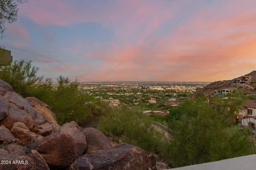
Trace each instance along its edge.
{"label": "distant city spread over the green valley below the horizon", "polygon": [[79,90],[110,106],[130,105],[153,110],[161,105],[162,111],[166,112],[182,103],[197,86],[205,85],[201,82],[90,82],[79,84]]}

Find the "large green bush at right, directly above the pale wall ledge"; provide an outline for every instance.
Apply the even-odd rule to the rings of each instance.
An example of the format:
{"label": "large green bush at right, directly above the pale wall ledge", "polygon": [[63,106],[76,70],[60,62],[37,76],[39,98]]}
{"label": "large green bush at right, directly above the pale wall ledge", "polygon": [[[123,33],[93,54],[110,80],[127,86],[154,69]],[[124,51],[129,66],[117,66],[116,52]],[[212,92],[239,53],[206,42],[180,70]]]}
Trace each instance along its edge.
{"label": "large green bush at right, directly above the pale wall ledge", "polygon": [[247,134],[227,121],[231,115],[214,114],[204,101],[186,101],[178,109],[168,149],[175,167],[252,154]]}

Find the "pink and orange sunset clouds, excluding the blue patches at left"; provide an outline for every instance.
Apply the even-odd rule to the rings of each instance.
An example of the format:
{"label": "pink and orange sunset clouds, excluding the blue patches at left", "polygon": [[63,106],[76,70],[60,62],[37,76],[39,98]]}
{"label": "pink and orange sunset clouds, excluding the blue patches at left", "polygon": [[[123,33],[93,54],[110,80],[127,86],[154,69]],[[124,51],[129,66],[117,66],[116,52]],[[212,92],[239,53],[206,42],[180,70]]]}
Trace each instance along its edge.
{"label": "pink and orange sunset clouds, excluding the blue patches at left", "polygon": [[[114,31],[113,40],[97,42],[86,52],[90,43],[77,41],[68,52],[80,62],[54,61],[53,71],[70,72],[80,80],[213,81],[255,69],[256,13],[251,2],[198,7],[172,26],[166,23],[182,18],[185,6],[194,1],[115,1],[86,10],[71,1],[31,1],[21,7],[21,15],[43,26],[96,22]],[[29,38],[22,28],[10,31]],[[100,64],[93,67],[88,60]]]}

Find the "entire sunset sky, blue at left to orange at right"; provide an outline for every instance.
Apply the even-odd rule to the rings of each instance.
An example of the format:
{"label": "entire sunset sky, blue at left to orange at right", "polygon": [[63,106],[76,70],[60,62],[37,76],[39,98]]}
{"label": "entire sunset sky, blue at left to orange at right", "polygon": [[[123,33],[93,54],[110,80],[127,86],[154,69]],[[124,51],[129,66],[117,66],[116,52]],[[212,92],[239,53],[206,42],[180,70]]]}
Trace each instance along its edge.
{"label": "entire sunset sky, blue at left to orange at right", "polygon": [[29,0],[0,44],[45,78],[217,81],[256,70],[255,0]]}

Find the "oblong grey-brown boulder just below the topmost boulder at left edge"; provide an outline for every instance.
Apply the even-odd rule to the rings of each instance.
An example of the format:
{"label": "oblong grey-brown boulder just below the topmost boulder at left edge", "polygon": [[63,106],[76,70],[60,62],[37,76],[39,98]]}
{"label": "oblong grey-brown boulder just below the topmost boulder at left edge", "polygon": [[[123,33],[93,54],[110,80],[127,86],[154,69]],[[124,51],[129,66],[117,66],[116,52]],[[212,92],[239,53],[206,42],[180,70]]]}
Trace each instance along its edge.
{"label": "oblong grey-brown boulder just below the topmost boulder at left edge", "polygon": [[23,109],[26,105],[30,105],[27,100],[25,100],[22,96],[16,94],[15,92],[7,91],[4,97],[8,99],[10,103],[15,104],[21,109]]}

